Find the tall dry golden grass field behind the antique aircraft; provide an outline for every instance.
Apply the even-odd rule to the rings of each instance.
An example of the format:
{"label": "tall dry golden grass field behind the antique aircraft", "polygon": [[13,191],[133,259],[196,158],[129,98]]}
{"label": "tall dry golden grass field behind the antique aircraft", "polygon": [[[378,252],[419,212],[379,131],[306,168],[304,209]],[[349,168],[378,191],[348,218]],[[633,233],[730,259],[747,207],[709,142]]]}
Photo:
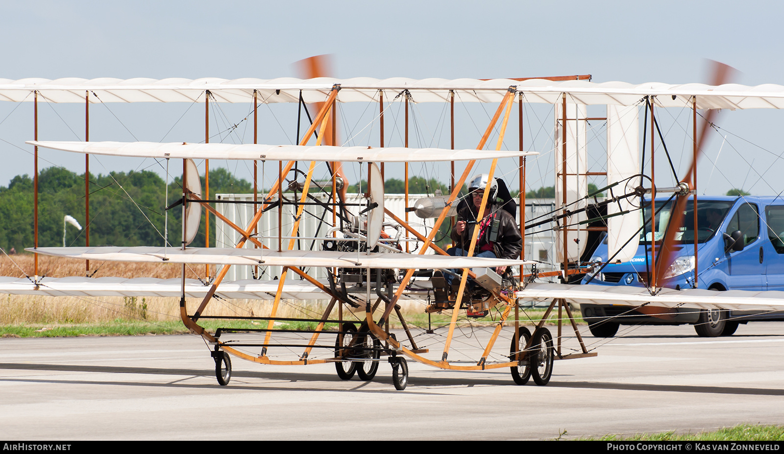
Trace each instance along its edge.
{"label": "tall dry golden grass field behind the antique aircraft", "polygon": [[[85,275],[85,262],[83,260],[67,260],[58,257],[38,256],[38,274],[49,277],[66,277]],[[169,263],[121,263],[121,262],[91,262],[90,271],[96,271],[96,277],[121,277],[121,278],[179,278],[180,265]],[[203,274],[203,266],[187,270],[188,278],[197,278],[196,271]],[[25,275],[34,274],[34,256],[32,254],[16,254],[13,256],[0,256],[0,275],[24,278]],[[220,292],[219,292],[220,294]],[[201,299],[188,299],[187,307],[192,314],[201,303]],[[279,318],[320,318],[325,310],[325,301],[293,301],[281,300],[277,317]],[[448,311],[444,314],[425,314],[423,303],[416,301],[401,302],[402,313],[409,325],[443,325],[448,323]],[[238,316],[238,317],[268,317],[272,309],[269,300],[227,300],[215,298],[210,301],[204,315]],[[356,314],[349,314],[344,310],[344,320],[358,321],[365,318],[364,308]],[[491,314],[488,318],[473,320],[480,324],[492,324],[498,320],[499,314]],[[534,309],[525,311],[523,319],[530,318],[527,323],[538,321],[543,316],[543,310]],[[556,313],[550,314],[548,324],[556,321]],[[575,312],[578,323],[583,323],[579,312]],[[331,318],[336,318],[332,313]],[[205,323],[209,320],[202,319]],[[0,294],[0,325],[9,331],[11,327],[22,327],[28,331],[35,326],[44,327],[45,330],[74,327],[76,325],[102,325],[113,327],[119,325],[136,324],[137,332],[145,332],[145,326],[162,329],[163,322],[169,322],[167,332],[171,327],[184,329],[180,321],[180,299],[178,297],[76,297],[76,296],[27,296]],[[225,323],[224,321],[215,321]],[[390,320],[394,328],[400,327],[399,322]],[[248,322],[246,322],[248,323]],[[299,322],[292,322],[299,323]],[[200,321],[200,324],[203,323]],[[258,325],[258,322],[251,322]],[[279,324],[279,322],[276,322]],[[299,323],[301,324],[301,323]],[[142,326],[138,326],[142,325]],[[307,323],[305,325],[308,325]],[[305,326],[303,325],[303,326]],[[206,325],[205,325],[206,326]],[[250,325],[249,325],[250,326]],[[293,326],[292,326],[293,327]],[[0,329],[2,330],[2,329]],[[9,332],[16,332],[11,329]],[[4,334],[6,336],[7,334]],[[59,335],[59,334],[58,334]],[[73,334],[67,334],[73,335]]]}

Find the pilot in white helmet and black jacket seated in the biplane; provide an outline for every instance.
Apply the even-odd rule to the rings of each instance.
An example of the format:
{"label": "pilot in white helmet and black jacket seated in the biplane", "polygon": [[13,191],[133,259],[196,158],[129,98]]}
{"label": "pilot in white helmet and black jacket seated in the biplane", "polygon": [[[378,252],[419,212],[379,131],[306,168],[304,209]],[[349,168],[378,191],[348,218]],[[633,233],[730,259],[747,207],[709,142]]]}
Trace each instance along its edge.
{"label": "pilot in white helmet and black jacket seated in the biplane", "polygon": [[[474,256],[492,257],[497,259],[517,259],[522,250],[523,238],[517,228],[517,221],[514,220],[514,201],[508,200],[503,204],[496,203],[499,196],[499,184],[494,178],[489,181],[488,174],[481,173],[474,176],[468,185],[469,200],[466,204],[461,204],[457,212],[457,223],[452,229],[452,240],[456,246],[448,249],[450,256],[467,256],[471,245],[471,237],[474,228],[479,227],[477,244],[474,247]],[[506,185],[504,185],[506,187]],[[488,202],[485,209],[480,213],[482,197],[485,191],[488,194]],[[508,193],[508,191],[505,191]],[[506,267],[497,267],[498,274],[504,274]],[[452,274],[445,275],[448,284],[452,283]]]}

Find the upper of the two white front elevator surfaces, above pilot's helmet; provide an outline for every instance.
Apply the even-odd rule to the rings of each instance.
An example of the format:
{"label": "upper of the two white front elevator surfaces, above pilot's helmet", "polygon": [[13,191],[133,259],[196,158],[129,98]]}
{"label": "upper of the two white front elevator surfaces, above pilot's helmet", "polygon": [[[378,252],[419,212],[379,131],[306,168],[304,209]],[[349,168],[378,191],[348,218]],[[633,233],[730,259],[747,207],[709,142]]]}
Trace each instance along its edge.
{"label": "upper of the two white front elevator surfaces, above pilot's helmet", "polygon": [[444,148],[332,147],[321,145],[260,145],[244,143],[56,142],[27,143],[74,153],[135,158],[258,159],[268,161],[329,162],[435,162],[470,159],[516,158],[532,151],[447,150]]}

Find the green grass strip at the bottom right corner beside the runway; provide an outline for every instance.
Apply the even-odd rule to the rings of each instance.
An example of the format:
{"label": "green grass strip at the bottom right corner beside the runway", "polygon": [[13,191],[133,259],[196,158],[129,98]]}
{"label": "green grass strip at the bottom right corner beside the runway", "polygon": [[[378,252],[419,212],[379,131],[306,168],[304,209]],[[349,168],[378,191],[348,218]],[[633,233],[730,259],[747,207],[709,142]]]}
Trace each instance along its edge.
{"label": "green grass strip at the bottom right corner beside the runway", "polygon": [[778,441],[784,440],[784,426],[739,424],[710,432],[677,434],[674,430],[658,434],[636,434],[631,437],[604,435],[600,438],[579,438],[595,441]]}

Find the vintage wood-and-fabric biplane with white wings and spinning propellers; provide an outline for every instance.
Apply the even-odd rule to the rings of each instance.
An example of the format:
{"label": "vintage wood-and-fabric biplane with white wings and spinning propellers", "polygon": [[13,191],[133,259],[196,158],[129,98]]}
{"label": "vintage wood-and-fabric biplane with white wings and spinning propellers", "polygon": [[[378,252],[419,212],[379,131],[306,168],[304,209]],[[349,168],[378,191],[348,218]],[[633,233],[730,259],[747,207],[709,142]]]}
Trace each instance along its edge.
{"label": "vintage wood-and-fabric biplane with white wings and spinning propellers", "polygon": [[[597,285],[571,285],[587,273],[595,271],[601,263],[583,260],[585,248],[593,231],[606,231],[609,250],[612,256],[623,256],[635,249],[642,220],[633,208],[635,200],[655,194],[670,194],[677,203],[695,200],[696,157],[700,143],[696,134],[697,109],[709,112],[725,108],[784,107],[784,87],[764,85],[743,87],[740,85],[631,85],[620,82],[597,84],[585,80],[554,81],[546,79],[514,80],[492,79],[479,81],[472,79],[443,80],[356,78],[337,80],[314,78],[309,80],[240,79],[224,81],[202,79],[184,80],[132,80],[118,81],[100,79],[97,81],[37,81],[35,83],[0,83],[0,96],[9,100],[23,100],[30,92],[47,93],[49,102],[85,101],[83,93],[98,92],[103,102],[132,101],[176,101],[196,100],[198,96],[209,93],[210,99],[218,102],[247,102],[252,100],[254,112],[261,102],[306,102],[320,103],[307,133],[296,145],[268,145],[256,143],[149,143],[149,142],[68,142],[41,141],[38,137],[30,143],[35,147],[91,155],[111,155],[120,157],[154,158],[169,162],[182,163],[183,191],[180,202],[169,209],[182,210],[183,227],[181,240],[167,242],[163,246],[145,247],[40,247],[37,244],[28,249],[37,254],[69,257],[75,260],[116,260],[132,262],[180,263],[183,278],[175,281],[112,281],[110,278],[40,278],[37,273],[31,282],[0,282],[2,292],[42,292],[51,295],[143,295],[155,294],[180,297],[180,318],[183,324],[211,346],[212,358],[216,362],[216,379],[227,385],[231,376],[230,357],[241,358],[268,365],[313,365],[334,363],[336,372],[343,380],[356,373],[361,380],[372,380],[379,363],[388,361],[392,367],[394,386],[402,390],[408,383],[407,360],[417,361],[438,369],[481,371],[488,369],[510,368],[514,383],[535,383],[544,385],[550,381],[555,359],[586,358],[595,356],[583,343],[579,329],[572,316],[569,303],[622,302],[633,306],[647,307],[655,311],[666,311],[671,307],[695,307],[699,310],[729,307],[780,308],[784,296],[777,292],[726,292],[717,297],[715,292],[702,289],[662,289],[652,272],[651,285],[641,289],[608,289]],[[383,146],[383,96],[392,93],[417,102],[442,102],[454,104],[456,99],[463,102],[498,104],[495,114],[481,135],[477,147],[472,149],[440,149]],[[459,95],[459,96],[456,96]],[[37,98],[36,98],[37,99]],[[241,100],[241,101],[240,101]],[[382,135],[379,147],[339,147],[324,143],[328,136],[329,120],[336,118],[339,103],[365,102],[379,103],[380,114],[374,120],[382,122]],[[474,229],[470,238],[468,256],[450,256],[438,247],[434,238],[442,224],[448,222],[452,210],[465,198],[460,196],[463,184],[475,172],[480,160],[490,162],[488,181],[500,166],[514,163],[514,172],[519,173],[520,205],[524,207],[525,158],[535,153],[519,150],[504,150],[504,135],[512,118],[514,104],[520,114],[519,128],[522,131],[521,112],[524,103],[545,103],[554,107],[556,162],[556,197],[561,204],[550,213],[549,221],[557,226],[557,248],[560,269],[552,272],[536,270],[535,260],[526,260],[525,249],[514,259],[494,259],[474,256],[477,246],[477,232]],[[595,192],[588,194],[586,177],[586,158],[580,145],[581,134],[589,119],[587,105],[606,105],[608,124],[607,185],[600,191],[607,191],[608,197],[598,202]],[[639,154],[639,114],[641,110],[651,111],[654,107],[681,107],[694,112],[694,154],[692,165],[683,180],[674,187],[657,187],[654,180],[641,172]],[[710,118],[709,118],[710,119]],[[710,121],[709,121],[710,123]],[[334,122],[332,123],[334,125]],[[653,131],[653,127],[652,127]],[[313,136],[318,137],[314,145],[309,145]],[[497,141],[493,150],[485,150],[493,134]],[[333,134],[334,136],[334,134]],[[701,137],[704,137],[702,133]],[[406,143],[407,145],[407,143]],[[584,143],[583,143],[584,145]],[[652,148],[653,151],[653,148]],[[201,183],[195,160],[237,159],[253,162],[278,163],[278,178],[267,194],[261,194],[253,202],[254,214],[245,225],[238,225],[223,216],[212,205],[220,201],[202,198]],[[296,162],[310,162],[307,171],[294,174],[292,183],[297,188],[296,198],[284,197],[285,180],[292,178]],[[426,216],[434,219],[429,233],[419,231],[412,222],[397,216],[384,205],[384,163],[390,162],[465,162],[462,173],[453,180],[448,195],[434,195],[419,205],[419,209],[429,211]],[[343,165],[354,165],[360,169],[367,180],[366,191],[361,203],[349,203],[346,194],[339,190]],[[316,169],[326,167],[330,180],[315,180]],[[454,171],[454,176],[457,176]],[[297,176],[299,175],[299,176]],[[302,179],[301,181],[298,179]],[[291,184],[289,185],[291,187]],[[311,191],[328,194],[325,200],[312,197]],[[479,212],[492,206],[496,201],[488,200],[491,191],[482,193]],[[655,199],[653,199],[655,200]],[[593,201],[593,203],[591,203]],[[277,238],[272,238],[258,225],[263,216],[274,216],[278,209],[280,216],[284,205],[293,210],[293,223],[284,236],[278,229]],[[304,238],[299,234],[306,207],[318,205],[331,216],[321,216],[328,224],[325,233],[317,237],[307,237],[318,242],[317,247],[296,249],[296,240]],[[591,207],[600,212],[598,218],[589,218]],[[196,248],[189,244],[194,238],[198,223],[202,218],[201,209],[226,223],[240,237],[234,248]],[[410,207],[406,212],[416,211]],[[654,207],[655,209],[655,207]],[[679,210],[674,210],[676,213]],[[682,211],[682,210],[680,210]],[[520,227],[526,231],[538,223],[526,225],[521,209]],[[329,220],[328,218],[332,219]],[[674,233],[682,219],[672,216],[668,230],[661,243],[652,245],[652,263],[657,270],[668,267],[674,260]],[[280,219],[280,218],[278,218]],[[596,225],[596,224],[600,225]],[[586,227],[587,226],[587,227]],[[419,242],[416,253],[408,251],[401,235],[388,234],[392,228],[405,231],[406,238]],[[524,237],[523,237],[524,238]],[[658,239],[658,238],[657,238]],[[277,241],[275,241],[277,240]],[[313,243],[311,243],[313,244]],[[431,252],[431,253],[425,253]],[[194,264],[218,265],[209,285],[187,282],[184,278],[186,266]],[[230,267],[281,267],[281,274],[273,281],[224,281]],[[326,271],[327,278],[314,278],[307,269],[320,268]],[[489,269],[495,267],[514,268],[514,273],[504,276],[494,275]],[[456,281],[448,289],[441,306],[435,311],[451,314],[443,327],[447,332],[444,347],[430,352],[426,346],[417,342],[413,332],[400,311],[399,303],[404,299],[423,301],[426,307],[433,307],[436,299],[437,282],[433,270],[452,274]],[[696,273],[696,270],[694,271]],[[300,281],[287,279],[288,274],[296,274]],[[486,278],[486,279],[483,279]],[[542,278],[560,278],[561,283],[542,282]],[[109,279],[108,281],[106,279]],[[538,281],[539,280],[539,281]],[[695,280],[696,282],[697,280]],[[457,283],[459,282],[459,284]],[[279,329],[278,321],[291,321],[278,316],[281,300],[314,299],[319,294],[329,303],[318,317],[302,319],[312,322],[312,329]],[[198,307],[187,307],[186,297],[198,296]],[[216,298],[265,298],[273,300],[272,311],[268,317],[245,317],[266,328],[258,329],[217,329],[214,332],[199,325],[199,320],[223,318],[205,315],[205,308]],[[531,331],[521,317],[521,302],[546,300],[549,303],[545,315]],[[460,323],[466,321],[470,313],[494,310],[497,317],[488,322],[492,334],[483,346],[478,358],[455,358],[452,355],[452,341]],[[558,329],[554,337],[545,322],[550,314],[557,311]],[[347,314],[361,314],[353,320]],[[392,332],[390,318],[396,317],[403,327],[401,332]],[[232,318],[241,318],[239,316]],[[299,319],[296,321],[300,321]],[[579,347],[572,352],[561,350],[561,323],[568,321]],[[336,328],[328,329],[328,325]],[[513,329],[504,329],[512,325]],[[303,336],[301,342],[292,343],[290,335]],[[252,335],[252,336],[250,336]],[[328,337],[331,336],[331,337]],[[398,337],[400,337],[398,339]],[[325,343],[323,340],[328,338]],[[499,353],[497,343],[504,338],[510,342],[507,350]],[[276,356],[277,351],[289,354],[290,358]],[[383,359],[382,359],[383,358]]]}

